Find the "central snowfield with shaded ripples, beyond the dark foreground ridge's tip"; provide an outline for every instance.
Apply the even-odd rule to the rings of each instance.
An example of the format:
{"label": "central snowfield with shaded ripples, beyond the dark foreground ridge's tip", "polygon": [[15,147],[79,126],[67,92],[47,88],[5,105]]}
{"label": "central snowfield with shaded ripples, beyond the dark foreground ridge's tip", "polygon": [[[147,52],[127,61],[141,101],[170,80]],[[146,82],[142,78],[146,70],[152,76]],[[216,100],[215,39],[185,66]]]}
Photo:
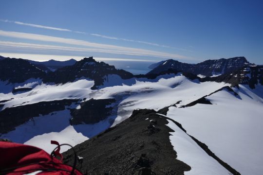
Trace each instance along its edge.
{"label": "central snowfield with shaded ripples, beyond the dark foreground ridge's tip", "polygon": [[[130,84],[131,81],[132,79],[126,80]],[[122,97],[113,125],[129,118],[135,109],[159,110],[179,101],[181,102],[178,106],[187,105],[220,88],[230,86],[225,83],[191,81],[181,73],[161,75],[153,80],[139,78],[134,82],[135,84],[132,86],[123,84],[122,86],[102,88],[91,95],[94,99]]]}

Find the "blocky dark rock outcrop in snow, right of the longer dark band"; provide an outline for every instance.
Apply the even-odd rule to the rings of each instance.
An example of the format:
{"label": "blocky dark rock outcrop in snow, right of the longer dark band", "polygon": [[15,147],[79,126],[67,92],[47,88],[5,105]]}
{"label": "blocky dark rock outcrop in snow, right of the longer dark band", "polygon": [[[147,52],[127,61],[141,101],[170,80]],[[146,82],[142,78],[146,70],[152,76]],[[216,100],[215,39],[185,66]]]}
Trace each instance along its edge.
{"label": "blocky dark rock outcrop in snow, right of the longer dark band", "polygon": [[111,115],[112,107],[107,107],[115,102],[115,99],[90,99],[80,104],[80,109],[72,109],[71,124],[93,124],[106,119]]}

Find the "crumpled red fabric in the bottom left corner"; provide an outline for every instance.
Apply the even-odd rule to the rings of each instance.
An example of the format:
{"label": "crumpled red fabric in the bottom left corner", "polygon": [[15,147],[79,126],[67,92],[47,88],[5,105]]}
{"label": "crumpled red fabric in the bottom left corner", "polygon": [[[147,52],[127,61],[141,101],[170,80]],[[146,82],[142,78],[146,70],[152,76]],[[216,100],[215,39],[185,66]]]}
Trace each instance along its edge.
{"label": "crumpled red fabric in the bottom left corner", "polygon": [[[12,169],[11,172],[3,172],[3,170],[9,168]],[[48,169],[56,170],[47,172]],[[57,169],[67,170],[68,172]],[[72,167],[62,164],[60,160],[51,157],[47,152],[40,148],[19,143],[0,141],[0,174],[24,175],[39,170],[42,170],[42,172],[38,175],[69,175],[72,171]],[[75,170],[74,174],[82,175],[77,170]]]}

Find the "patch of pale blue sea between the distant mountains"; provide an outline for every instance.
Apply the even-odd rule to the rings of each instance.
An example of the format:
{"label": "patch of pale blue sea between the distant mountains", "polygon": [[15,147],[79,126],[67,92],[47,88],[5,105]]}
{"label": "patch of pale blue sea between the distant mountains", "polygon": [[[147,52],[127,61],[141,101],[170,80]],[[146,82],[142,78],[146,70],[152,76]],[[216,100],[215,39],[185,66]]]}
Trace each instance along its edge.
{"label": "patch of pale blue sea between the distant mountains", "polygon": [[156,62],[143,62],[143,61],[104,61],[109,65],[115,66],[116,69],[123,69],[131,72],[134,75],[146,74],[151,69],[148,67]]}

